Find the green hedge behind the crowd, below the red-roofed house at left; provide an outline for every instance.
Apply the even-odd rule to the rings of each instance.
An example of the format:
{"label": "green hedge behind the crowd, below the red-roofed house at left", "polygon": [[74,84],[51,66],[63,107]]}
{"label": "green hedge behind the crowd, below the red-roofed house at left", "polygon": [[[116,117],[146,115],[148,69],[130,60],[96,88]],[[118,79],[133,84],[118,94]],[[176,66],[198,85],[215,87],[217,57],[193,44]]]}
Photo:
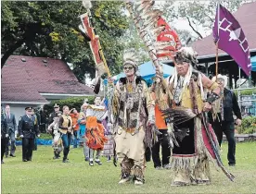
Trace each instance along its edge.
{"label": "green hedge behind the crowd, below the red-roofed house at left", "polygon": [[[94,103],[95,97],[90,96],[86,97],[89,103]],[[80,112],[81,106],[83,105],[84,97],[73,97],[67,98],[64,100],[52,101],[49,104],[45,104],[44,109],[47,111],[47,114],[50,115],[54,112],[54,104],[57,103],[60,106],[60,111],[62,111],[62,107],[67,105],[71,108],[75,108],[78,112]]]}

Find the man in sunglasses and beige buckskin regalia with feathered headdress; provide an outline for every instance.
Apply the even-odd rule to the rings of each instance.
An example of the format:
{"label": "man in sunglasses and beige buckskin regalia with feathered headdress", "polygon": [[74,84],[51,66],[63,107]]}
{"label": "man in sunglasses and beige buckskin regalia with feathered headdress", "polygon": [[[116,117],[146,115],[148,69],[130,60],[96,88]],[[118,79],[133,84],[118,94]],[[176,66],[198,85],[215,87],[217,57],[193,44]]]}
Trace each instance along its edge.
{"label": "man in sunglasses and beige buckskin regalia with feathered headdress", "polygon": [[[155,121],[154,102],[146,82],[135,75],[138,69],[137,57],[133,52],[123,56],[125,78],[114,87],[111,104],[113,134],[116,153],[121,163],[120,184],[130,181],[144,184],[145,149],[144,140],[150,141],[149,126]],[[109,79],[111,85],[112,79]]]}

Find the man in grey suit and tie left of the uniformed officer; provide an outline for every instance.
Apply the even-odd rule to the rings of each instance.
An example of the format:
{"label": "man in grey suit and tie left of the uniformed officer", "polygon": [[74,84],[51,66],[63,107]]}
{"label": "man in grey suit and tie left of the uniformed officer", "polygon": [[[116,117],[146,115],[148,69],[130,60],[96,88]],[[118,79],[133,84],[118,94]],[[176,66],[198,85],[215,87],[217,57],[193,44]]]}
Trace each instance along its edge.
{"label": "man in grey suit and tie left of the uniformed officer", "polygon": [[10,113],[10,106],[6,105],[6,123],[7,123],[7,127],[9,130],[9,138],[11,140],[11,144],[10,144],[10,149],[9,149],[9,140],[7,141],[7,145],[6,145],[6,157],[8,156],[8,153],[10,151],[10,156],[11,157],[16,157],[15,156],[15,139],[16,139],[16,131],[17,131],[17,124],[16,124],[16,119],[15,119],[15,115]]}

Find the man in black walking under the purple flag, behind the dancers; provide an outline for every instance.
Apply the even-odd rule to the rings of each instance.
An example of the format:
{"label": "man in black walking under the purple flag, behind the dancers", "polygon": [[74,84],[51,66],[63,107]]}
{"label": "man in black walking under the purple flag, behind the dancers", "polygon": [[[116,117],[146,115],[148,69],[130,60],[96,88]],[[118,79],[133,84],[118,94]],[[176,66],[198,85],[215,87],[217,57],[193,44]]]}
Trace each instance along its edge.
{"label": "man in black walking under the purple flag, behind the dancers", "polygon": [[[212,80],[215,81],[216,77]],[[235,93],[225,88],[227,85],[227,77],[218,75],[217,83],[222,88],[222,97],[214,103],[213,112],[209,114],[210,122],[220,146],[223,140],[223,133],[225,134],[228,141],[228,164],[235,166],[236,139],[233,112],[237,116],[237,126],[241,125],[242,116]]]}

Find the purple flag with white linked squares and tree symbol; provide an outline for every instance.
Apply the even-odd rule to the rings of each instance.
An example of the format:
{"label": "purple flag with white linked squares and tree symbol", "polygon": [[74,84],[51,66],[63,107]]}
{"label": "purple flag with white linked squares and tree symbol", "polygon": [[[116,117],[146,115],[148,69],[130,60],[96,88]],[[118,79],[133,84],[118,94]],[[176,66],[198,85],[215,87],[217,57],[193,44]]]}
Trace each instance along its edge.
{"label": "purple flag with white linked squares and tree symbol", "polygon": [[212,30],[215,42],[218,42],[218,47],[230,55],[249,76],[251,63],[247,38],[237,19],[222,5],[217,7]]}

